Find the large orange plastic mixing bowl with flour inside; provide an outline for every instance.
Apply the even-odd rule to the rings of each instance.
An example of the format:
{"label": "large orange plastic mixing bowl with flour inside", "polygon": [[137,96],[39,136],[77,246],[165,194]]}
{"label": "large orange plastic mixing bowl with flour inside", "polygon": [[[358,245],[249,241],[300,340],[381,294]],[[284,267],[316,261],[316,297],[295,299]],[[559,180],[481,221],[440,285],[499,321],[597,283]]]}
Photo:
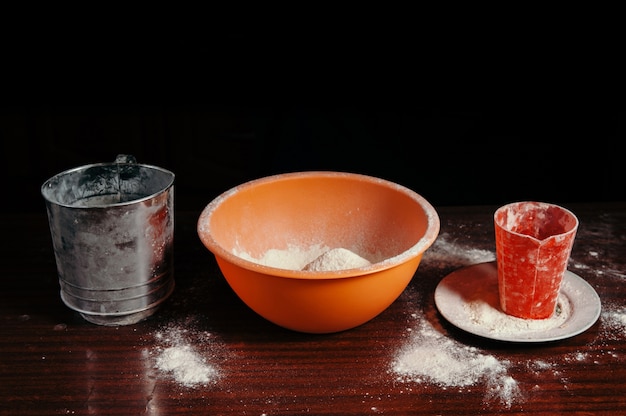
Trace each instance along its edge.
{"label": "large orange plastic mixing bowl with flour inside", "polygon": [[[331,333],[373,319],[400,296],[439,234],[439,216],[423,197],[393,182],[296,172],[223,193],[204,208],[197,231],[252,310],[294,331]],[[302,270],[335,248],[369,264]],[[280,255],[270,261],[269,253]]]}

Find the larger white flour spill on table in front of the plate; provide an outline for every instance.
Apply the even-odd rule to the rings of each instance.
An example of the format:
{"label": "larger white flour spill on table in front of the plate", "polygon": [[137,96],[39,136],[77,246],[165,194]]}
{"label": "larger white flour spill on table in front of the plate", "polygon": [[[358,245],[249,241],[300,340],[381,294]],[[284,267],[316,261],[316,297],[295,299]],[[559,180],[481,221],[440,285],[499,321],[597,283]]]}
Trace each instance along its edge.
{"label": "larger white flour spill on table in front of the plate", "polygon": [[447,338],[424,321],[391,364],[398,381],[434,383],[441,387],[469,387],[485,383],[485,400],[511,407],[521,396],[517,381],[508,374],[507,361],[482,354],[478,348]]}

